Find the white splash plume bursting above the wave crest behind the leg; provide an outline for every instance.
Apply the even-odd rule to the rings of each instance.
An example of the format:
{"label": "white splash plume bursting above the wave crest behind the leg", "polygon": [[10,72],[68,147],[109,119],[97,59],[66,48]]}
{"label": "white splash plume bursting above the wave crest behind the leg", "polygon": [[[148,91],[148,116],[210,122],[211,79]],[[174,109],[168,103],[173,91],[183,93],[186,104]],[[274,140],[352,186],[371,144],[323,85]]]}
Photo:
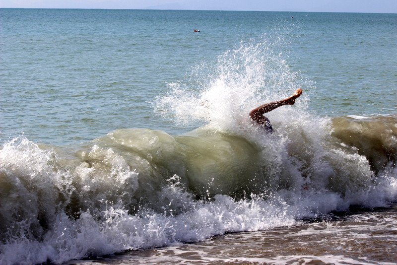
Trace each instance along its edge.
{"label": "white splash plume bursting above the wave crest behind the leg", "polygon": [[[180,124],[210,123],[228,131],[241,123],[246,126],[251,109],[284,98],[298,86],[311,86],[291,71],[278,51],[281,42],[280,37],[267,35],[260,41],[241,42],[240,47],[218,57],[210,76],[199,74],[204,71],[200,68],[211,67],[209,63],[196,67],[194,76],[202,81],[170,83],[171,92],[156,99],[156,111]],[[300,101],[302,109],[304,99]]]}

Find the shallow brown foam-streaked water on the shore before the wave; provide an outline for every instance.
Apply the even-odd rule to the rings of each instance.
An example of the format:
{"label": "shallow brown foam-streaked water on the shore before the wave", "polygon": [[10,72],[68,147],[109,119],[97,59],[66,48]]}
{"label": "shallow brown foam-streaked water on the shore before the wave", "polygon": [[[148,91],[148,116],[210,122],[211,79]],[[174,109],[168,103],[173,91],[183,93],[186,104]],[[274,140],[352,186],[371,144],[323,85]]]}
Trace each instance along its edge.
{"label": "shallow brown foam-streaked water on the shore before the wave", "polygon": [[291,227],[232,233],[198,243],[132,251],[65,265],[396,264],[397,204],[332,213]]}

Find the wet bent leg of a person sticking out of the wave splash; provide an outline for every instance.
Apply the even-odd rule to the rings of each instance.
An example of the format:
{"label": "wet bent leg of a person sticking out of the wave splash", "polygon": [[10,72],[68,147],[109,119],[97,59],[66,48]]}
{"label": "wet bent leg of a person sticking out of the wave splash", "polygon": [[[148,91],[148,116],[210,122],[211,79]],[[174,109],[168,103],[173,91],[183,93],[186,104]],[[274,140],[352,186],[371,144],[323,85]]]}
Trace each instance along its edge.
{"label": "wet bent leg of a person sticking out of the wave splash", "polygon": [[253,121],[257,122],[261,127],[263,127],[266,132],[272,132],[273,128],[271,127],[271,123],[269,119],[264,116],[264,114],[283,105],[294,105],[295,99],[298,98],[301,94],[302,89],[298,88],[295,90],[292,96],[287,97],[286,99],[265,103],[258,108],[253,109],[250,112],[250,117]]}

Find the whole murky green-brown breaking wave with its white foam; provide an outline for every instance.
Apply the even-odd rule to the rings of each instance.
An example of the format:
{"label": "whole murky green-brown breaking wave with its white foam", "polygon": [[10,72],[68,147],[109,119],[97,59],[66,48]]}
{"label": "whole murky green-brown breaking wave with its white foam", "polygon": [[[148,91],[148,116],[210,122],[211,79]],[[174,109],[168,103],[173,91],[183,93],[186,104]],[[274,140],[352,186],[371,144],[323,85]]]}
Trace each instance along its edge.
{"label": "whole murky green-brown breaking wave with its white foam", "polygon": [[276,123],[262,138],[205,126],[116,130],[64,148],[14,139],[0,151],[2,264],[198,241],[396,199],[396,116],[308,123]]}

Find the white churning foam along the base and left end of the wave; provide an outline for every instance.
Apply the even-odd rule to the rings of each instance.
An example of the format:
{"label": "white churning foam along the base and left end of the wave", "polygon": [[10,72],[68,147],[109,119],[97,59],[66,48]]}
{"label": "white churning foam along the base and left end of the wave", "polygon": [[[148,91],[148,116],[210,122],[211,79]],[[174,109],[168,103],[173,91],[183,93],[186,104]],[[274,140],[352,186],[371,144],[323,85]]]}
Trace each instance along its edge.
{"label": "white churning foam along the base and left end of the wave", "polygon": [[[124,159],[115,152],[93,145],[90,153],[91,156],[96,154],[95,159],[103,155],[103,159],[112,165],[112,170],[102,176],[104,179],[86,175],[86,168],[79,169],[79,166],[75,167],[78,178],[71,177],[75,173],[67,172],[66,168],[70,167],[58,167],[64,161],[59,159],[59,154],[54,150],[43,150],[25,138],[4,146],[0,152],[2,187],[14,185],[15,188],[9,190],[12,194],[2,193],[1,217],[3,223],[16,229],[9,231],[11,234],[7,236],[6,244],[0,247],[1,264],[32,264],[46,260],[62,263],[87,255],[201,241],[227,232],[290,226],[296,223],[296,218],[317,217],[331,210],[346,209],[351,203],[385,206],[397,194],[393,167],[385,170],[383,176],[378,176],[368,190],[349,189],[355,196],[345,198],[321,187],[323,181],[316,182],[312,177],[311,182],[305,184],[307,190],[300,189],[303,183],[298,179],[292,189],[280,188],[265,196],[266,199],[252,195],[252,199],[235,201],[230,196],[217,195],[207,202],[196,201],[174,176],[169,180],[170,184],[159,191],[159,198],[167,199],[170,205],[183,205],[188,211],[174,214],[173,209],[167,207],[160,213],[142,208],[131,214],[125,206],[106,200],[101,193],[106,189],[119,191],[118,179],[122,181],[132,177],[134,181],[130,187],[134,187],[134,174],[139,173],[128,173],[131,177],[126,177]],[[294,166],[289,166],[291,173]],[[117,168],[120,169],[118,172],[115,171]],[[113,180],[116,190],[112,187],[112,178],[116,178]],[[77,180],[81,183],[73,184]],[[83,198],[91,200],[84,205],[94,205],[76,220],[66,214],[67,207],[63,207],[58,198],[59,191],[67,196],[75,189],[81,189],[86,194]],[[98,191],[102,192],[96,194]],[[98,204],[101,199],[103,203]],[[12,220],[15,218],[12,212],[18,211],[24,212],[25,218]],[[43,211],[47,217],[40,218],[47,218],[50,225],[45,231],[35,217],[42,215]],[[32,230],[34,227],[36,229]],[[34,239],[34,233],[41,234],[40,238]]]}

